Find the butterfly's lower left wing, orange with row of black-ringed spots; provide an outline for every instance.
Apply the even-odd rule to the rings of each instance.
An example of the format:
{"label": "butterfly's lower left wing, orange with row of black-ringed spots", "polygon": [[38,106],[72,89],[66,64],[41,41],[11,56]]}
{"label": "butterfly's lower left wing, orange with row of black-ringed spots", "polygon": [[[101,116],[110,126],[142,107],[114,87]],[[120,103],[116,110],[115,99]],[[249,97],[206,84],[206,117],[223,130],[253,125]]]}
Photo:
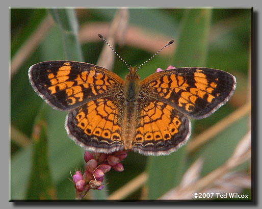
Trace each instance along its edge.
{"label": "butterfly's lower left wing, orange with row of black-ringed spots", "polygon": [[111,153],[123,149],[121,97],[99,98],[71,111],[66,120],[68,135],[81,146]]}

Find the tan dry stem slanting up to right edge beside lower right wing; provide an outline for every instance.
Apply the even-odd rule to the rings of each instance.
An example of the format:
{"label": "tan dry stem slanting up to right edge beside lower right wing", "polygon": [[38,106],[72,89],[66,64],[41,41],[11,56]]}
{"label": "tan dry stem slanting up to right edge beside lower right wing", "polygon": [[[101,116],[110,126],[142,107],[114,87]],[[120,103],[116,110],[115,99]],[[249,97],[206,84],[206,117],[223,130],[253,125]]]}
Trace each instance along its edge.
{"label": "tan dry stem slanting up to right edge beside lower right wing", "polygon": [[187,145],[188,152],[192,152],[200,147],[202,144],[206,143],[208,140],[211,140],[212,137],[219,134],[223,129],[230,126],[235,121],[239,120],[240,118],[244,117],[246,114],[250,113],[251,111],[251,103],[247,103],[246,105],[242,106],[238,110],[234,111],[227,117],[223,118],[215,125],[206,129],[203,133],[199,134],[191,140]]}

